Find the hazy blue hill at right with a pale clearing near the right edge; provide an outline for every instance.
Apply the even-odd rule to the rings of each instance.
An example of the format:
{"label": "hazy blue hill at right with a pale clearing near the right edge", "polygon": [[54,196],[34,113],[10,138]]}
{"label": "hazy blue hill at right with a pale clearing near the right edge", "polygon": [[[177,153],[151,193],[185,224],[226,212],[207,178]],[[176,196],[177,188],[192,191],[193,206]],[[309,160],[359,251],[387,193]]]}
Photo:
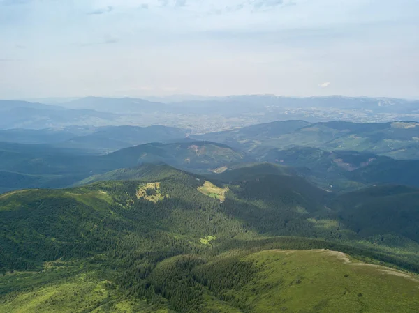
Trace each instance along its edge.
{"label": "hazy blue hill at right with a pale clearing near the right edge", "polygon": [[[280,125],[279,132],[272,132]],[[255,129],[255,132],[248,130]],[[198,137],[199,138],[199,137]],[[419,123],[351,123],[330,121],[308,124],[303,121],[273,122],[228,132],[213,132],[203,138],[229,143],[243,151],[263,155],[272,148],[309,146],[326,151],[358,151],[388,155],[397,159],[419,158]]]}

